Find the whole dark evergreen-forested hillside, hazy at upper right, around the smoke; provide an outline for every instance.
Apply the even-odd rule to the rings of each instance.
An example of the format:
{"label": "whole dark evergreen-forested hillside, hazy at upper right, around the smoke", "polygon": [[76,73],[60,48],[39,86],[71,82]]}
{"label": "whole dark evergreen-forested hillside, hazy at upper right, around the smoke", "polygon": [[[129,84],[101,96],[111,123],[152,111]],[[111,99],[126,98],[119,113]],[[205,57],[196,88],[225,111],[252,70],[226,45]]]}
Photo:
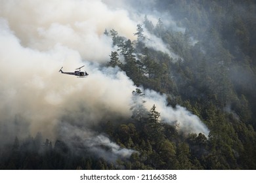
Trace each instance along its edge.
{"label": "whole dark evergreen-forested hillside, hazy at upper right, around the smoke", "polygon": [[[163,16],[153,23],[145,14],[134,41],[114,28],[102,31],[112,51],[100,67],[125,72],[137,89],[131,91],[130,118],[103,120],[91,129],[133,150],[131,157],[95,155],[79,137],[51,142],[39,132],[2,146],[0,169],[256,169],[255,1],[157,5]],[[166,23],[171,19],[176,27]],[[165,95],[176,110],[185,107],[209,134],[185,133],[179,121],[163,123],[158,105],[144,107],[145,90]]]}

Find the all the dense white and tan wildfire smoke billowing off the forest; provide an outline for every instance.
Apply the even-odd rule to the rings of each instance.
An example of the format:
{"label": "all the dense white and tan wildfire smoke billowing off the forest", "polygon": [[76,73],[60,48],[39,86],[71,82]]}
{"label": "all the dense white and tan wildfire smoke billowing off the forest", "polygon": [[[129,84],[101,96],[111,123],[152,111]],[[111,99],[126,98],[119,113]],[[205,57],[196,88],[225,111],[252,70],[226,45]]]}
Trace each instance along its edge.
{"label": "all the dense white and tan wildfire smoke billowing off the forest", "polygon": [[[131,117],[136,87],[118,68],[102,67],[113,49],[104,29],[135,40],[136,25],[144,17],[123,9],[124,2],[115,7],[113,1],[99,0],[0,0],[1,144],[41,131],[53,141],[77,135],[95,152],[104,151],[100,144],[109,146],[110,161],[131,155],[133,150],[89,130],[100,122]],[[73,72],[82,65],[87,78],[58,73],[62,66]],[[146,108],[156,104],[164,122],[177,121],[187,133],[208,134],[185,108],[167,107],[165,97],[154,91],[145,94]]]}

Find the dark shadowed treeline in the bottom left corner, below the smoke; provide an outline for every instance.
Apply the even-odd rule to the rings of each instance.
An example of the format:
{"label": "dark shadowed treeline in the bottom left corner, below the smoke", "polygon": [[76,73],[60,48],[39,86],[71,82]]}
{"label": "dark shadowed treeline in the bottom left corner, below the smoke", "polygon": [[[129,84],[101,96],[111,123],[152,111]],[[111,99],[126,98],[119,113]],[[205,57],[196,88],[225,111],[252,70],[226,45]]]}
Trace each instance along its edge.
{"label": "dark shadowed treeline in the bottom left corner, below the smoke", "polygon": [[0,154],[0,169],[116,169],[112,163],[87,152],[75,153],[65,142],[57,140],[53,146],[46,139],[37,144],[36,138],[28,137],[20,143],[16,137],[13,146],[5,146]]}

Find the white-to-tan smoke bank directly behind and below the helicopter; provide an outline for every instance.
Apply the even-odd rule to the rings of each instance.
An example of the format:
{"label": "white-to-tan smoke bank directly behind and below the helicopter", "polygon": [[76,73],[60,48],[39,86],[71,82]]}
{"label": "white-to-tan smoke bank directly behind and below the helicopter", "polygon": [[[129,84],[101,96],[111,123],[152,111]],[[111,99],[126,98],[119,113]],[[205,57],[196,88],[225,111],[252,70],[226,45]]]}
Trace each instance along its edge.
{"label": "white-to-tan smoke bank directly behind and below the helicopter", "polygon": [[[41,131],[54,139],[65,114],[79,124],[99,122],[113,113],[131,116],[127,104],[135,86],[123,71],[100,69],[65,46],[45,52],[25,48],[7,23],[0,20],[1,134],[25,137]],[[58,70],[62,65],[64,69],[85,65],[90,75],[83,79],[61,75]],[[27,122],[26,129],[12,124],[17,116]]]}

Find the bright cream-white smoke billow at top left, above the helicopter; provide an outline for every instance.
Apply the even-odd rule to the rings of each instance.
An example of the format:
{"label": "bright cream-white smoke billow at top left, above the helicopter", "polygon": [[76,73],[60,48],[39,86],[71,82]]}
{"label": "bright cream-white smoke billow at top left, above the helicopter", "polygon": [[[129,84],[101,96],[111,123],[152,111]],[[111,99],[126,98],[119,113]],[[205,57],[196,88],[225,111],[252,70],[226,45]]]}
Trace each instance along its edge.
{"label": "bright cream-white smoke billow at top left, above the helicopter", "polygon": [[110,10],[100,0],[1,1],[0,8],[0,16],[22,45],[37,50],[52,50],[59,44],[77,50],[83,59],[104,62],[112,49],[104,29],[135,39],[137,23],[127,10]]}

